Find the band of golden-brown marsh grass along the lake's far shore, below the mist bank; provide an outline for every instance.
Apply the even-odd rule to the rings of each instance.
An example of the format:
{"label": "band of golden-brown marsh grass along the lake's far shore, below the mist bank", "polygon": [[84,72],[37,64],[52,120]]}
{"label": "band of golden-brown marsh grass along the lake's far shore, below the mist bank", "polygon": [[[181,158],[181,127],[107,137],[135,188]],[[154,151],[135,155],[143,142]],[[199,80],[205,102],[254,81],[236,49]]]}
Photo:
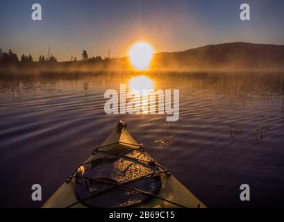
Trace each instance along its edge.
{"label": "band of golden-brown marsh grass along the lake's far shore, below the mist bank", "polygon": [[[133,76],[148,76],[156,83],[156,88],[164,85],[178,85],[192,90],[208,89],[222,92],[229,96],[283,96],[282,113],[284,112],[284,73],[281,72],[161,72],[161,71],[42,71],[36,73],[19,73],[0,71],[2,87],[56,83],[63,81],[81,81],[85,83],[112,83],[114,79],[126,83]],[[244,100],[245,103],[245,100]]]}

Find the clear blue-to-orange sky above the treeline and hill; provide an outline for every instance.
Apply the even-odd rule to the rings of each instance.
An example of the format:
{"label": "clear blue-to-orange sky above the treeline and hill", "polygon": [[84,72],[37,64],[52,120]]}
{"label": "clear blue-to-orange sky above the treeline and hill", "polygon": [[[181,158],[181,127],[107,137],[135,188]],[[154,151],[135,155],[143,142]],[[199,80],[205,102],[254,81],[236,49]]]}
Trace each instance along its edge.
{"label": "clear blue-to-orange sky above the treeline and hill", "polygon": [[[31,19],[40,3],[42,21]],[[249,3],[251,20],[240,20]],[[1,0],[0,48],[47,56],[126,56],[147,41],[156,52],[184,51],[206,44],[254,42],[284,44],[283,0]]]}

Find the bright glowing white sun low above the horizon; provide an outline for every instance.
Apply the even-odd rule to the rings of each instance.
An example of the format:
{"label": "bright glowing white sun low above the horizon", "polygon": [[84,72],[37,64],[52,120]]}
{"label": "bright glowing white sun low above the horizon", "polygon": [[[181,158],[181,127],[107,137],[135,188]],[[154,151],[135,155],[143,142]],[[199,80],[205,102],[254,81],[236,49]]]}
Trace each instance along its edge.
{"label": "bright glowing white sun low above the horizon", "polygon": [[153,49],[147,42],[135,43],[128,52],[131,64],[135,69],[148,69],[153,56]]}

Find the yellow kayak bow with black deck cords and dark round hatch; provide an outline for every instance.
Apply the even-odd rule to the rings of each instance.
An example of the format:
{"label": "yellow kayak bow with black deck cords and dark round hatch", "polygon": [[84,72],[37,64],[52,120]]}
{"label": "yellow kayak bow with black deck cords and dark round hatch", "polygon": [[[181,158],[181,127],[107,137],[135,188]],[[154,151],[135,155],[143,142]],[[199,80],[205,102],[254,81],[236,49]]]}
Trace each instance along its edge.
{"label": "yellow kayak bow with black deck cords and dark round hatch", "polygon": [[42,206],[206,208],[145,151],[119,121],[108,138],[76,167]]}

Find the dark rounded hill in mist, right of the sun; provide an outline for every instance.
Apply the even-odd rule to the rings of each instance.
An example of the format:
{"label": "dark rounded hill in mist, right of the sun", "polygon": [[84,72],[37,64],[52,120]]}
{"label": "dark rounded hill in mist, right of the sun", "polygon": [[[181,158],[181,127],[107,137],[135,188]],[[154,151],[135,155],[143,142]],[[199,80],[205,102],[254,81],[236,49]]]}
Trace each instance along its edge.
{"label": "dark rounded hill in mist, right of the sun", "polygon": [[172,53],[156,53],[153,69],[284,70],[284,46],[233,42]]}

